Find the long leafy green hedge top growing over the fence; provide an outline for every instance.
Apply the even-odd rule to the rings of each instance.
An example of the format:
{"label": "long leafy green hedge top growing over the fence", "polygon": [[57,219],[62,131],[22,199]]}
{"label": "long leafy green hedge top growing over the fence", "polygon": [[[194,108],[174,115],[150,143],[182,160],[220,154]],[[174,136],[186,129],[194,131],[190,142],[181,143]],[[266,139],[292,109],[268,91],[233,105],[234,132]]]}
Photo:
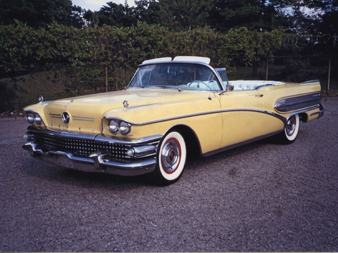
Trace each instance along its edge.
{"label": "long leafy green hedge top growing over the fence", "polygon": [[143,60],[176,55],[207,56],[214,66],[227,66],[231,71],[234,57],[250,65],[272,56],[285,38],[282,30],[258,33],[240,28],[220,34],[205,27],[189,33],[145,23],[131,28],[77,29],[53,24],[34,29],[17,22],[0,26],[0,73],[62,66],[69,76],[77,77],[77,83],[95,86],[107,67],[116,74],[109,75],[109,83],[118,84],[126,78],[122,72],[133,72]]}

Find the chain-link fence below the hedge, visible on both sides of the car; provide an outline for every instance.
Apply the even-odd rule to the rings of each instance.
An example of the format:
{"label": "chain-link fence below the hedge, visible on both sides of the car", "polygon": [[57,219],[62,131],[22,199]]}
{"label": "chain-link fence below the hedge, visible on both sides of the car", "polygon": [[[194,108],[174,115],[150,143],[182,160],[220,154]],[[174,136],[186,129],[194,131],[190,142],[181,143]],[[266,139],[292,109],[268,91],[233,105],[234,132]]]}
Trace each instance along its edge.
{"label": "chain-link fence below the hedge, visible on both sides of the car", "polygon": [[[214,61],[213,61],[214,60]],[[217,62],[211,59],[211,65]],[[330,90],[332,95],[338,91],[338,57],[332,56],[276,56],[261,59],[251,66],[245,66],[241,59],[233,58],[227,67],[229,80],[274,80],[284,82],[304,82],[320,80],[323,91]],[[21,112],[29,105],[44,100],[84,95],[90,93],[120,90],[126,86],[135,70],[116,70],[108,73],[100,71],[95,85],[93,81],[76,80],[71,74],[57,71],[35,71],[34,73],[0,78],[0,113]],[[123,72],[123,82],[112,83],[112,75]],[[78,76],[78,75],[77,75]]]}

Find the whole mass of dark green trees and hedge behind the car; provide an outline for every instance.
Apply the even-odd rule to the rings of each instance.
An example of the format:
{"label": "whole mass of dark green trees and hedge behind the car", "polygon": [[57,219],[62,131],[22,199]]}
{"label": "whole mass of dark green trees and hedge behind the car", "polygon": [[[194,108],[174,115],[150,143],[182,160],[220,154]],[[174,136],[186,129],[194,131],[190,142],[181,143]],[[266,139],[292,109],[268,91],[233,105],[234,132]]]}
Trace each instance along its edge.
{"label": "whole mass of dark green trees and hedge behind the car", "polygon": [[[277,64],[284,61],[284,55],[299,59],[315,55],[313,59],[321,61],[328,61],[325,55],[333,55],[331,77],[337,80],[337,0],[135,3],[107,2],[92,12],[73,6],[71,0],[0,0],[2,107],[13,107],[16,100],[19,108],[20,101],[32,99],[24,97],[28,83],[18,76],[29,79],[27,74],[45,73],[43,80],[59,84],[54,92],[57,97],[62,92],[69,96],[104,91],[107,70],[109,90],[118,90],[128,84],[145,59],[176,55],[210,57],[214,67],[227,67],[230,75],[236,68],[245,73],[252,70],[246,76],[250,79],[264,79],[266,62],[276,61],[269,70],[285,81],[310,76],[325,80],[328,75],[327,68],[313,68],[318,60],[296,63],[292,58]],[[273,58],[275,55],[281,57]],[[8,77],[11,84],[6,86]]]}

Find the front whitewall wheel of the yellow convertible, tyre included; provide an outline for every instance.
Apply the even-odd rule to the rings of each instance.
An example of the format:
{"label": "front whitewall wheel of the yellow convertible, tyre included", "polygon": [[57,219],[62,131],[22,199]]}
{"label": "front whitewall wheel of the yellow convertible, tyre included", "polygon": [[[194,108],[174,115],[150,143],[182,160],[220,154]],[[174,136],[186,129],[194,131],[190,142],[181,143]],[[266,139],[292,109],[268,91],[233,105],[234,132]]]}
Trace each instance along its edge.
{"label": "front whitewall wheel of the yellow convertible, tyre included", "polygon": [[168,185],[176,182],[181,177],[186,164],[187,147],[183,136],[179,132],[169,132],[163,138],[157,159],[158,162],[153,171],[156,183]]}

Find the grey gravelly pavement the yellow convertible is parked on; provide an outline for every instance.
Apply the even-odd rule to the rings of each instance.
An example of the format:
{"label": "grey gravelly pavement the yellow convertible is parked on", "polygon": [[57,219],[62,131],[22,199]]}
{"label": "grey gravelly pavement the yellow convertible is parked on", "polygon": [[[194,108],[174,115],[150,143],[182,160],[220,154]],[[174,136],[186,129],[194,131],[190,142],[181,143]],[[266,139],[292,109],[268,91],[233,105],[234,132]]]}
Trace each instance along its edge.
{"label": "grey gravelly pavement the yellow convertible is parked on", "polygon": [[338,251],[338,98],[291,145],[197,158],[175,184],[57,167],[0,119],[0,251]]}

